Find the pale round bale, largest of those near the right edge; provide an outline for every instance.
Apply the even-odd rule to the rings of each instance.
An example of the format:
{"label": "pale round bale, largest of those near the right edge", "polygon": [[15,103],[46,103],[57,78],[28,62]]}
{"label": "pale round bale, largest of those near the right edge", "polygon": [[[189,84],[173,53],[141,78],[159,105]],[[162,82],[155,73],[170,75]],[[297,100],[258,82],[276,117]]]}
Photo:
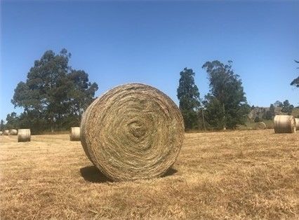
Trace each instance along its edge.
{"label": "pale round bale, largest of those near the right edge", "polygon": [[296,131],[296,123],[294,116],[277,115],[274,117],[275,133],[294,133]]}

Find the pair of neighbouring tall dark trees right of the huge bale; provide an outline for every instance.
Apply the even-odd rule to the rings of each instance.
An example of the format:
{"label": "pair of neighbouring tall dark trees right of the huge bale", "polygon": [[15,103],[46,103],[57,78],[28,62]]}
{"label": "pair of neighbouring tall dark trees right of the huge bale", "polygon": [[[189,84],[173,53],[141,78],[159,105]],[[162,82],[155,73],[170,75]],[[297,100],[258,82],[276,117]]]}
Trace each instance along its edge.
{"label": "pair of neighbouring tall dark trees right of the huge bale", "polygon": [[185,68],[180,72],[178,99],[186,130],[234,129],[246,123],[251,108],[238,74],[232,69],[232,61],[223,64],[218,60],[202,66],[208,74],[210,90],[200,99],[194,83],[194,71]]}

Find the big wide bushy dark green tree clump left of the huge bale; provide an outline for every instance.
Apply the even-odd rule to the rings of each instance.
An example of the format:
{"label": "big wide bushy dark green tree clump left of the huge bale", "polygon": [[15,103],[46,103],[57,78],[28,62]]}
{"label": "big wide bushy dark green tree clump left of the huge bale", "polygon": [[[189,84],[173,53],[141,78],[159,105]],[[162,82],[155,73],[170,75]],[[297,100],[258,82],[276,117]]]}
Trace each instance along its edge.
{"label": "big wide bushy dark green tree clump left of the huge bale", "polygon": [[34,62],[27,81],[18,83],[11,102],[24,108],[20,126],[32,130],[60,130],[78,125],[84,109],[91,104],[96,83],[83,70],[69,67],[70,53],[48,50]]}

